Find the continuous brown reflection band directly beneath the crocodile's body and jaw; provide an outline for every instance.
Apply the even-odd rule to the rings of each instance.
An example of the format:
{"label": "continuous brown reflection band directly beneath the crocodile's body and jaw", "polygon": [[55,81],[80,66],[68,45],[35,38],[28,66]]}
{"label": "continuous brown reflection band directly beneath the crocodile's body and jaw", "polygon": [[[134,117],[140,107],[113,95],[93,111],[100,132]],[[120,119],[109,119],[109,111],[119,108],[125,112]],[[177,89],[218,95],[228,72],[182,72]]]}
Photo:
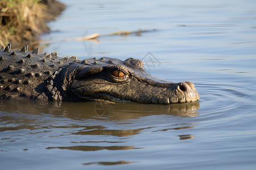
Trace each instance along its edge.
{"label": "continuous brown reflection band directly beneath the crocodile's body and jaw", "polygon": [[[120,104],[110,102],[63,102],[49,101],[0,101],[2,112],[26,114],[53,114],[67,118],[110,118],[111,120],[128,120],[143,116],[167,114],[180,117],[198,116],[199,102],[158,105],[158,104]],[[7,116],[8,117],[8,116]],[[29,121],[29,119],[27,120]]]}

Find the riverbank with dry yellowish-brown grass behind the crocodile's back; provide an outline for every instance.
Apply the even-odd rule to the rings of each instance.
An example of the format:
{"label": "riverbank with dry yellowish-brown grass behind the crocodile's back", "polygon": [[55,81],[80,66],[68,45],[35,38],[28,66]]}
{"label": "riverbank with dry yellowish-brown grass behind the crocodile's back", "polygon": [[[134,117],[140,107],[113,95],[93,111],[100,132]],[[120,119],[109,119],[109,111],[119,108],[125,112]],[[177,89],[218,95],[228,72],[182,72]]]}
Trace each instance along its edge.
{"label": "riverbank with dry yellowish-brown grass behind the crocodile's back", "polygon": [[[65,5],[55,0],[3,0],[0,2],[0,45],[11,42],[18,48],[37,41],[49,31],[47,22],[63,11]],[[32,48],[32,46],[31,46]]]}

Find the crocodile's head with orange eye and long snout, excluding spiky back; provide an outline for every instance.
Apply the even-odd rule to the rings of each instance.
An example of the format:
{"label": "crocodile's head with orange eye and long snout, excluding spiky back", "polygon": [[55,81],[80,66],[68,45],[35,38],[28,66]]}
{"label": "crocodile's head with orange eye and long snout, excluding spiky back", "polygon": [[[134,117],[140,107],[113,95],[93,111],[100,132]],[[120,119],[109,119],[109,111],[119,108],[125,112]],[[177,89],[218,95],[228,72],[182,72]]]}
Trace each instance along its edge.
{"label": "crocodile's head with orange eye and long snout, excluding spiky back", "polygon": [[117,103],[171,104],[199,100],[191,82],[167,82],[148,74],[139,59],[86,59],[60,71],[65,100],[109,100]]}

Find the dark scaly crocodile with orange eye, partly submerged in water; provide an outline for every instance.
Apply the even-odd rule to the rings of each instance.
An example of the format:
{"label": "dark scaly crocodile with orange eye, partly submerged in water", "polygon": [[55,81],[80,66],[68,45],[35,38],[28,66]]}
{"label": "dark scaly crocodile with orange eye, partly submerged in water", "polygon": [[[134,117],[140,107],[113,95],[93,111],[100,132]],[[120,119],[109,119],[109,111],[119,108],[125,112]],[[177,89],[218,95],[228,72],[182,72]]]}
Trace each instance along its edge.
{"label": "dark scaly crocodile with orange eye, partly submerged in water", "polygon": [[148,74],[140,59],[77,59],[39,54],[28,45],[0,50],[0,99],[112,101],[171,104],[199,100],[191,82],[168,82]]}

